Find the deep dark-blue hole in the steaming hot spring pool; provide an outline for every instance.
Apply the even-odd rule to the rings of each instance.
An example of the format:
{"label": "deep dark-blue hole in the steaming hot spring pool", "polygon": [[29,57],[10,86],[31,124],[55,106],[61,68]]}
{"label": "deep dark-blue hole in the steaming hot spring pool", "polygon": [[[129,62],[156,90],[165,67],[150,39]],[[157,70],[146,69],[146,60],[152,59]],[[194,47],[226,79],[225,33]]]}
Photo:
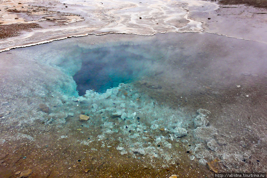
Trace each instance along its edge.
{"label": "deep dark-blue hole in the steaming hot spring pool", "polygon": [[136,80],[144,71],[144,57],[124,50],[124,46],[88,50],[80,58],[81,69],[73,76],[80,96],[92,89],[104,93],[120,83]]}

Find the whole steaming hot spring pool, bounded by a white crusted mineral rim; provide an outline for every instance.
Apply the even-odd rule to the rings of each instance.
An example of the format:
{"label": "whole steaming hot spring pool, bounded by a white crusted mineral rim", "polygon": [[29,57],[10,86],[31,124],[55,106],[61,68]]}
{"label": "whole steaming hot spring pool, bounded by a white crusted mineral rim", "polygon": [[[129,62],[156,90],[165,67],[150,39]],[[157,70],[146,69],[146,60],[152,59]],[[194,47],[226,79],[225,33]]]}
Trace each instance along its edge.
{"label": "whole steaming hot spring pool, bounded by a white crusted mineral rim", "polygon": [[[29,142],[13,149],[28,166],[34,150],[52,150],[38,163],[56,163],[64,171],[50,174],[63,177],[79,172],[70,172],[79,167],[71,159],[81,170],[90,164],[91,176],[117,170],[121,160],[166,175],[169,166],[199,166],[185,177],[206,174],[201,166],[215,158],[226,170],[243,159],[256,164],[260,157],[247,148],[266,144],[266,51],[244,39],[167,33],[89,35],[2,52],[1,143]],[[261,155],[261,148],[253,149]]]}

